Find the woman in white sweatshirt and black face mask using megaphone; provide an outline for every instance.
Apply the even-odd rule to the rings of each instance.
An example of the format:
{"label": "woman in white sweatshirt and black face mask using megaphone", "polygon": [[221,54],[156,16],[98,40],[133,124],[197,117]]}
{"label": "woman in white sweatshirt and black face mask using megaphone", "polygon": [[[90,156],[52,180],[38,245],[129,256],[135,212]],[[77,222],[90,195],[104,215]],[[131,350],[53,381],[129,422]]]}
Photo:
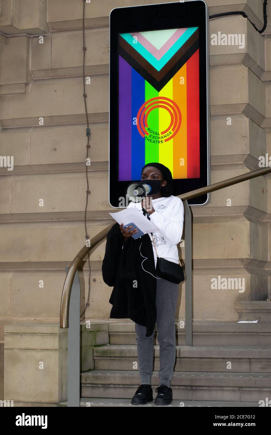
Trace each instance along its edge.
{"label": "woman in white sweatshirt and black face mask using megaphone", "polygon": [[[161,163],[148,163],[141,171],[141,183],[151,186],[151,192],[141,203],[130,202],[128,207],[135,207],[155,224],[159,231],[153,233],[157,255],[166,260],[178,263],[177,244],[181,241],[184,224],[184,206],[179,197],[172,195],[173,180],[171,171]],[[145,210],[143,210],[145,208]],[[124,242],[137,233],[135,228],[123,228],[120,225],[120,232],[123,234]],[[151,234],[149,234],[151,237]],[[152,239],[151,239],[152,240]],[[152,243],[153,244],[153,243]],[[156,267],[157,256],[153,245],[154,262]],[[142,258],[143,260],[143,258]],[[142,264],[144,268],[144,261]],[[172,402],[171,379],[173,378],[174,362],[176,356],[176,331],[175,311],[178,299],[179,284],[174,284],[163,278],[157,278],[156,308],[157,308],[157,332],[160,347],[160,370],[159,387],[155,390],[158,394],[154,404],[167,405]],[[135,322],[137,355],[141,385],[132,398],[133,405],[144,404],[153,400],[151,388],[151,375],[154,356],[154,333],[146,337],[146,327]]]}

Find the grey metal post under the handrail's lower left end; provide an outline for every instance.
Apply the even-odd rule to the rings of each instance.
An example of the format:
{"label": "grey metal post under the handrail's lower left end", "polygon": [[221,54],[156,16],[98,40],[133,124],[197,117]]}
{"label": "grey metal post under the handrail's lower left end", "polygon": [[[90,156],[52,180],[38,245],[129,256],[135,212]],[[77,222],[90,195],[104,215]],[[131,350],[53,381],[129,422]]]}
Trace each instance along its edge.
{"label": "grey metal post under the handrail's lower left end", "polygon": [[[69,267],[65,270],[67,273]],[[80,280],[78,269],[70,294],[67,382],[68,407],[80,407]]]}

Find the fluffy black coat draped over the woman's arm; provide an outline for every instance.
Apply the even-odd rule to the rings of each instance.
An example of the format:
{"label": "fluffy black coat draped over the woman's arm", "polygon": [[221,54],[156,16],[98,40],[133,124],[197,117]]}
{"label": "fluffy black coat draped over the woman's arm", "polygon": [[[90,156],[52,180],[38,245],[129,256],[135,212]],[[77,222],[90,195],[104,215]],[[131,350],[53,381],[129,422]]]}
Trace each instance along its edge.
{"label": "fluffy black coat draped over the woman's arm", "polygon": [[108,286],[114,286],[109,299],[113,305],[110,318],[130,318],[146,326],[146,337],[151,336],[157,317],[157,279],[149,234],[137,239],[129,237],[124,242],[120,225],[114,224],[107,234],[102,275]]}

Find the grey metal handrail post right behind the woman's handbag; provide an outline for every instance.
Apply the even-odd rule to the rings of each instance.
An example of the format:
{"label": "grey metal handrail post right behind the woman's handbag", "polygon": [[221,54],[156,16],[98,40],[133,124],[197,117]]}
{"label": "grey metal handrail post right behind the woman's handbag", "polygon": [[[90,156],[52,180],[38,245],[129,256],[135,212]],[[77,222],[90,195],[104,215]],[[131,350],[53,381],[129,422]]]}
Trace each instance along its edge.
{"label": "grey metal handrail post right behind the woman's handbag", "polygon": [[187,200],[184,201],[184,255],[185,255],[185,344],[193,346],[193,275],[192,275],[192,216]]}

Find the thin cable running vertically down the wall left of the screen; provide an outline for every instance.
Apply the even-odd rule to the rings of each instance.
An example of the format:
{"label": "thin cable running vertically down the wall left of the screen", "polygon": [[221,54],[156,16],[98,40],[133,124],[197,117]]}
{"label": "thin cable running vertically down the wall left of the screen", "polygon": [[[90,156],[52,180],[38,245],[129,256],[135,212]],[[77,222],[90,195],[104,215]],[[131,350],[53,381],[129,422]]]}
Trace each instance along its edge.
{"label": "thin cable running vertically down the wall left of the screen", "polygon": [[[86,233],[86,241],[89,240],[89,236],[87,234],[87,203],[88,203],[88,195],[90,194],[89,190],[89,182],[88,182],[88,171],[87,171],[87,159],[88,159],[88,150],[90,148],[90,128],[89,128],[89,122],[88,122],[88,114],[87,114],[87,94],[86,94],[86,78],[85,78],[85,56],[86,56],[86,50],[87,47],[85,46],[85,3],[86,0],[83,0],[83,89],[84,89],[84,103],[85,103],[85,111],[86,111],[86,119],[87,119],[87,156],[86,156],[86,181],[87,181],[87,197],[86,197],[86,207],[85,207],[85,213],[84,213],[84,226],[85,226],[85,233]],[[89,305],[89,298],[90,298],[90,252],[87,253],[87,261],[88,261],[88,296],[87,296],[87,303],[85,306],[85,309],[83,313],[80,315],[80,318],[86,311],[88,305]],[[83,274],[84,276],[84,274]]]}

